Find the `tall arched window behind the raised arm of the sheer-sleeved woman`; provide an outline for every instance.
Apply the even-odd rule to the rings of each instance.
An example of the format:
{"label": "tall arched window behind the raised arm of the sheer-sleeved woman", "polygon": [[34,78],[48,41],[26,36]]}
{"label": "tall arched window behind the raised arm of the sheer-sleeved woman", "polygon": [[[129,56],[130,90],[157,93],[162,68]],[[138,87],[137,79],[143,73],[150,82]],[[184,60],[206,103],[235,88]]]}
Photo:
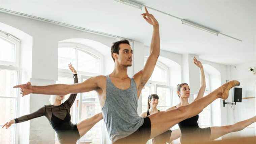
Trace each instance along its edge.
{"label": "tall arched window behind the raised arm of the sheer-sleeved woman", "polygon": [[[71,62],[78,73],[78,81],[83,82],[91,76],[102,74],[103,56],[85,45],[70,43],[61,45],[58,49],[58,83],[73,83],[73,75],[67,65]],[[68,95],[65,96],[65,99]],[[95,91],[78,93],[71,108],[73,123],[89,118],[101,112],[97,93]],[[80,138],[78,143],[102,143],[102,121],[98,122],[90,131]]]}

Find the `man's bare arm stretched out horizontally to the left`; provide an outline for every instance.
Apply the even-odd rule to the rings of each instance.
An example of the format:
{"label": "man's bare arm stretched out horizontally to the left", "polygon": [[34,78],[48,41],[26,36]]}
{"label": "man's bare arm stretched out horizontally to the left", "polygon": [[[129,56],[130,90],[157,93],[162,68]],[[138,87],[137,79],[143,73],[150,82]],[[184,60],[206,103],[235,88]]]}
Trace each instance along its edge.
{"label": "man's bare arm stretched out horizontally to the left", "polygon": [[96,76],[87,79],[81,83],[75,84],[53,84],[47,86],[33,86],[30,82],[27,84],[17,85],[13,88],[21,88],[22,96],[30,93],[47,94],[47,95],[66,95],[69,93],[88,92],[99,88],[99,83],[104,76]]}

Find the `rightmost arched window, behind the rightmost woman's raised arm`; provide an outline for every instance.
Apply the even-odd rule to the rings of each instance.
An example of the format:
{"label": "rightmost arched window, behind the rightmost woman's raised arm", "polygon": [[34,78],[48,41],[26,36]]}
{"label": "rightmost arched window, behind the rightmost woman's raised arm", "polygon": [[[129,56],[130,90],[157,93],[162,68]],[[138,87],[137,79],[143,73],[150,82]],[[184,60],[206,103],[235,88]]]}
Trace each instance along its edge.
{"label": "rightmost arched window, behind the rightmost woman's raised arm", "polygon": [[[211,92],[211,85],[210,85],[210,75],[206,72],[205,73],[205,83],[206,88],[204,92],[204,96]],[[203,111],[199,114],[199,126],[201,128],[211,127],[212,126],[212,114],[211,114],[212,105],[208,105],[203,109]]]}

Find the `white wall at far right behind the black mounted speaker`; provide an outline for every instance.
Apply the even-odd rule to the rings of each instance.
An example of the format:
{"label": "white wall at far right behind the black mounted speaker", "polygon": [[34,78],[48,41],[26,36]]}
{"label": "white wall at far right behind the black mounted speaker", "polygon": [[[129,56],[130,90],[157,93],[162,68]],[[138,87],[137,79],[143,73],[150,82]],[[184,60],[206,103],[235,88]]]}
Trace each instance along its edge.
{"label": "white wall at far right behind the black mounted speaker", "polygon": [[[255,76],[249,67],[256,67],[256,61],[245,64],[238,64],[230,66],[230,80],[238,80],[243,88],[242,97],[255,96]],[[231,100],[230,100],[231,101]],[[228,124],[234,124],[239,121],[243,121],[255,116],[255,98],[242,99],[242,103],[237,102],[235,109],[231,109],[231,106],[227,106],[228,110]],[[233,136],[255,136],[255,124],[250,125],[240,132],[229,134]]]}

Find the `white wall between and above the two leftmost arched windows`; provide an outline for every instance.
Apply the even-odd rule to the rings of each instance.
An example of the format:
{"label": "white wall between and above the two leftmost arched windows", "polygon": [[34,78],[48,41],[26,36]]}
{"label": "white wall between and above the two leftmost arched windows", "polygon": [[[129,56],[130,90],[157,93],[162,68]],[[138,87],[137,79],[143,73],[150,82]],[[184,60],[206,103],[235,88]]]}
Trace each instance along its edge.
{"label": "white wall between and above the two leftmost arched windows", "polygon": [[[45,23],[42,21],[32,20],[24,17],[9,15],[0,13],[1,23],[2,25],[8,25],[9,27],[14,27],[19,31],[29,35],[31,38],[24,38],[23,35],[17,33],[16,31],[10,29],[9,27],[0,27],[1,30],[9,32],[14,36],[18,37],[22,40],[22,44],[30,41],[30,43],[26,43],[22,47],[22,60],[24,59],[24,63],[22,63],[25,69],[22,69],[22,73],[26,75],[26,79],[22,81],[31,80],[36,85],[45,85],[53,84],[56,80],[58,80],[58,42],[71,38],[82,38],[82,39],[90,39],[93,41],[97,41],[106,45],[110,48],[113,42],[115,42],[114,38],[104,37],[102,35],[97,35],[93,33],[82,32],[50,23]],[[24,35],[25,35],[24,34]],[[32,48],[31,48],[32,46]],[[31,49],[29,49],[31,48]],[[110,49],[109,49],[110,51]],[[32,53],[32,55],[29,55]],[[31,56],[31,58],[30,58]],[[109,55],[110,57],[110,55]],[[29,59],[30,58],[30,59]],[[110,61],[110,60],[108,60]],[[113,62],[112,62],[113,63]],[[28,67],[28,68],[26,68]],[[112,69],[112,68],[111,68]],[[47,81],[47,82],[46,82]],[[33,83],[32,83],[33,84]],[[39,98],[39,100],[37,99]],[[21,99],[24,101],[24,99]],[[37,96],[31,95],[27,96],[27,104],[29,111],[20,113],[19,116],[28,113],[32,113],[37,110],[39,107],[49,104],[48,96]],[[33,104],[37,103],[37,105]],[[27,138],[21,137],[20,143],[54,143],[54,137],[49,137],[49,133],[41,132],[42,129],[50,130],[50,124],[43,124],[38,127],[38,124],[41,124],[41,118],[35,119],[30,122],[24,123],[23,129],[20,129],[20,136],[25,136]],[[46,119],[45,119],[46,120]],[[46,123],[49,123],[47,120]],[[26,131],[24,135],[24,131]],[[54,133],[53,133],[54,135]],[[29,136],[29,137],[28,137]],[[40,141],[38,139],[43,141]]]}

